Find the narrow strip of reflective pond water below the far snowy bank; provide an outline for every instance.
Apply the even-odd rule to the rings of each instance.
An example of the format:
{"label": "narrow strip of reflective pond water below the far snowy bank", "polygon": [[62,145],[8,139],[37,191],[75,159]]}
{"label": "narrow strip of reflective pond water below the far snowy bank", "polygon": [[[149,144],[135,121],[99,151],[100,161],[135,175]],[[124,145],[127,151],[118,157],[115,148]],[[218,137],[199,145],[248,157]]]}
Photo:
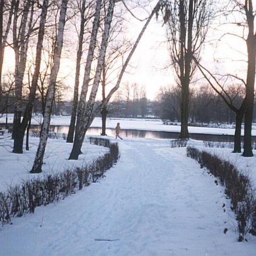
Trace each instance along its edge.
{"label": "narrow strip of reflective pond water below the far snowy bank", "polygon": [[[3,123],[0,127],[5,127]],[[32,125],[31,131],[39,130],[40,126]],[[55,133],[68,133],[68,126],[50,126],[50,131]],[[90,127],[86,135],[100,135],[100,127]],[[109,136],[115,136],[115,129],[106,129],[106,134]],[[122,129],[120,133],[121,137],[131,137],[131,138],[154,138],[154,139],[176,139],[179,133],[171,131],[144,131],[144,130],[133,130],[133,129]],[[233,142],[233,135],[214,135],[214,134],[199,134],[191,133],[191,139],[196,139],[199,141],[216,141],[216,142]],[[252,137],[252,141],[256,142],[256,136]]]}

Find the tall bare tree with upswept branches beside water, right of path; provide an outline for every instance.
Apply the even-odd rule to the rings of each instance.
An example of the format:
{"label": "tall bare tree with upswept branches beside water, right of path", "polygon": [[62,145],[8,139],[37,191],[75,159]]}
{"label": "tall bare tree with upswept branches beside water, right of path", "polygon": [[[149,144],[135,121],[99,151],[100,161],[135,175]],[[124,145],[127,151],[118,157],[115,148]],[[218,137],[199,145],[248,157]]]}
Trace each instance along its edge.
{"label": "tall bare tree with upswept branches beside water, right of path", "polygon": [[212,18],[212,0],[162,1],[172,65],[181,86],[180,138],[188,138],[189,84],[195,72],[192,56],[199,57]]}

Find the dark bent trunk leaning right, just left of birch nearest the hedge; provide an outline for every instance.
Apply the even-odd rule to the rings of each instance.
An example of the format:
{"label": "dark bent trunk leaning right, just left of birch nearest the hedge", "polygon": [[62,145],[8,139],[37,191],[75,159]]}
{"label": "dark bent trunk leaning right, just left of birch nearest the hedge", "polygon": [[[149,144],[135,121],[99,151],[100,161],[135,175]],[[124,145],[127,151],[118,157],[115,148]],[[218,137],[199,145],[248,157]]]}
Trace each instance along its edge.
{"label": "dark bent trunk leaning right, just left of birch nearest the hedge", "polygon": [[23,119],[16,131],[17,136],[14,138],[13,152],[15,153],[23,152],[24,134],[25,134],[28,122],[31,119],[30,115],[32,113],[32,107],[35,100],[36,87],[38,85],[38,77],[39,77],[40,65],[41,65],[41,59],[42,59],[42,47],[43,47],[43,39],[44,39],[44,30],[46,25],[46,16],[47,16],[47,10],[48,10],[48,2],[49,0],[43,1],[42,13],[40,16],[40,24],[39,24],[39,31],[38,31],[38,42],[36,44],[35,71],[32,77],[30,94],[28,96],[26,109],[24,110]]}

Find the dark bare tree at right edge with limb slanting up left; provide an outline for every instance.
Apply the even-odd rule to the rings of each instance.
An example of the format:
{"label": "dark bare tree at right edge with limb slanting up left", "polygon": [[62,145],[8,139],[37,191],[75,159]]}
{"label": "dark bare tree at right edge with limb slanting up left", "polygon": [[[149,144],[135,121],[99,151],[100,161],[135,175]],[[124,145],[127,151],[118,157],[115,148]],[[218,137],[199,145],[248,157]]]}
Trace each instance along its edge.
{"label": "dark bare tree at right edge with limb slanting up left", "polygon": [[[228,75],[237,79],[239,82],[242,82],[245,85],[245,98],[238,108],[233,104],[232,98],[226,92],[224,85],[213,76],[212,72],[203,67],[196,60],[194,56],[195,63],[197,67],[199,67],[201,73],[204,75],[205,79],[209,82],[212,88],[221,96],[226,105],[236,113],[236,131],[234,137],[234,152],[241,152],[241,125],[243,115],[245,116],[245,136],[244,136],[244,146],[243,146],[243,156],[253,156],[253,151],[251,148],[251,124],[253,122],[253,109],[254,109],[254,83],[255,83],[255,67],[256,67],[256,30],[254,28],[254,19],[255,19],[255,11],[253,9],[253,2],[251,0],[245,1],[230,1],[233,8],[231,11],[231,15],[233,16],[234,12],[241,13],[244,17],[243,20],[234,20],[233,24],[237,24],[238,26],[243,26],[242,36],[225,33],[225,35],[236,36],[241,38],[244,42],[246,42],[247,47],[247,72],[246,72],[246,81],[241,77],[236,75]],[[247,33],[246,33],[247,30]],[[210,78],[213,81],[210,81]]]}

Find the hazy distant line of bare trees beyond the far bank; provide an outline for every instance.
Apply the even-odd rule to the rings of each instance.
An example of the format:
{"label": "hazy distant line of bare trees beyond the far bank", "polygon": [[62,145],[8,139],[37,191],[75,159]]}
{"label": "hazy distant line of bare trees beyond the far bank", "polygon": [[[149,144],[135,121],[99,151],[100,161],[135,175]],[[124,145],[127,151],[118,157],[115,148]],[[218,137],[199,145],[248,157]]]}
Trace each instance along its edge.
{"label": "hazy distant line of bare trees beyond the far bank", "polygon": [[[239,86],[230,86],[229,94],[235,105],[239,106],[244,92]],[[181,90],[178,86],[167,86],[159,90],[154,101],[148,100],[146,95],[127,97],[127,92],[118,94],[108,105],[108,117],[119,118],[160,118],[171,122],[180,122]],[[53,101],[53,115],[71,115],[72,101],[57,98]],[[98,102],[99,104],[100,102]],[[98,105],[96,104],[96,106]],[[23,101],[24,108],[26,99]],[[189,99],[190,123],[234,123],[236,114],[232,112],[224,101],[209,86],[193,88]],[[7,106],[7,108],[6,108]],[[42,113],[44,102],[38,98],[34,105],[35,114]],[[2,113],[14,112],[14,96],[3,96],[1,101]],[[256,106],[254,106],[254,122],[256,122]],[[100,114],[98,114],[100,117]]]}

